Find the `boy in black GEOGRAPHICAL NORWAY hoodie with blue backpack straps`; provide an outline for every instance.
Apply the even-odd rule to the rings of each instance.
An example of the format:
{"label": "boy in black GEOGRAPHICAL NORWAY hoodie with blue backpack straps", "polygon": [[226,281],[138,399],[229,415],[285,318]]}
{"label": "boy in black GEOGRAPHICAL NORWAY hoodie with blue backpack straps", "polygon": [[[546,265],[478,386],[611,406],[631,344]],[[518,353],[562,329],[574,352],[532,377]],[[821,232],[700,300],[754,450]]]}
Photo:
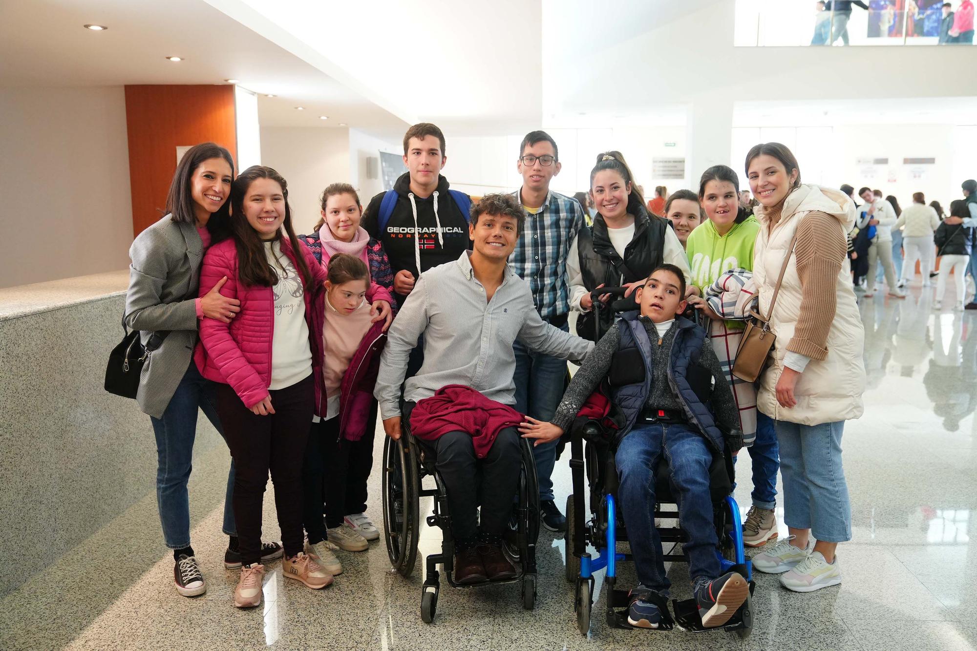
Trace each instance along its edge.
{"label": "boy in black GEOGRAPHICAL NORWAY hoodie with blue backpack straps", "polygon": [[[370,199],[362,228],[379,239],[394,271],[394,298],[404,305],[420,273],[454,262],[471,248],[468,210],[471,197],[448,190],[439,172],[445,166],[445,135],[434,124],[415,124],[404,134],[407,173],[394,184],[396,193]],[[396,198],[396,200],[395,200]]]}

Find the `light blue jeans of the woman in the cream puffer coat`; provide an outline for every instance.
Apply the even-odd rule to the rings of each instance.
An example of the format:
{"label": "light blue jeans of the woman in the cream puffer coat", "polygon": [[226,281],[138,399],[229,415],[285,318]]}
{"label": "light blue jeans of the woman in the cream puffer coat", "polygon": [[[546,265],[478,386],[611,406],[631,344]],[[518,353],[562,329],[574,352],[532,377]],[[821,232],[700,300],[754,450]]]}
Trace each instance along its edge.
{"label": "light blue jeans of the woman in the cream puffer coat", "polygon": [[820,425],[786,420],[774,423],[781,446],[786,525],[810,529],[819,541],[850,541],[851,504],[841,465],[844,421]]}

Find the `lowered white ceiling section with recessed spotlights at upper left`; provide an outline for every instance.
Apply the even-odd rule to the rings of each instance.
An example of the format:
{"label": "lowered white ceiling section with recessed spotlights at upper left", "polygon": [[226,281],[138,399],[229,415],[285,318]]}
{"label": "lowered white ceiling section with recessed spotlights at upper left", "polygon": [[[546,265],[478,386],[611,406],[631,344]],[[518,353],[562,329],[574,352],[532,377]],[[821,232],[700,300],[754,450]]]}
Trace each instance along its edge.
{"label": "lowered white ceiling section with recessed spotlights at upper left", "polygon": [[[83,28],[104,24],[106,31]],[[172,63],[168,56],[186,61]],[[404,121],[203,0],[0,1],[0,85],[208,84],[260,94],[263,126],[403,133]],[[267,98],[264,94],[277,97]],[[305,110],[296,110],[303,106]],[[328,115],[328,120],[319,119]]]}

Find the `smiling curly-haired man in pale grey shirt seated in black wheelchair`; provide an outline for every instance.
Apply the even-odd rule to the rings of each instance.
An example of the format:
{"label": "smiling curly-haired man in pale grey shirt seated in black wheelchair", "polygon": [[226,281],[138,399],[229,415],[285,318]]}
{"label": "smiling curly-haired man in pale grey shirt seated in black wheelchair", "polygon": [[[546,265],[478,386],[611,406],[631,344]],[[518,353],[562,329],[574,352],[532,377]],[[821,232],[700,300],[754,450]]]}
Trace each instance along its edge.
{"label": "smiling curly-haired man in pale grey shirt seated in black wheelchair", "polygon": [[[406,417],[411,432],[434,450],[445,483],[458,584],[516,575],[502,551],[522,459],[515,429],[522,416],[507,407],[516,403],[513,342],[518,338],[532,351],[573,361],[593,349],[592,342],[544,323],[529,283],[507,265],[524,220],[512,195],[487,195],[472,206],[473,250],[421,274],[390,328],[374,391],[390,437],[401,437]],[[404,384],[402,408],[407,358],[420,337],[424,363]],[[463,403],[451,399],[459,389]],[[474,430],[472,423],[486,420],[486,412],[499,415],[488,417],[495,426],[486,429],[492,431],[466,431],[466,423]],[[507,417],[509,426],[498,427]],[[426,436],[424,425],[430,429]]]}

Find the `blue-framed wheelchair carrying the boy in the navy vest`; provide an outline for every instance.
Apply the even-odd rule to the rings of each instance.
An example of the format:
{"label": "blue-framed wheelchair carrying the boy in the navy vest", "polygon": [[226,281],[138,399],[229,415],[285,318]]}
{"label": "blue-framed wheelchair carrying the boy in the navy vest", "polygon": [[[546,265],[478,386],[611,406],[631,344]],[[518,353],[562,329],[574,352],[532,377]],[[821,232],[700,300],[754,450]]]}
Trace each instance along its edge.
{"label": "blue-framed wheelchair carrying the boy in the navy vest", "polygon": [[[621,288],[616,287],[592,292],[595,308],[601,307],[599,294],[620,295],[622,292]],[[690,318],[694,318],[694,315]],[[599,324],[600,319],[595,319],[595,322]],[[595,600],[594,574],[606,570],[604,583],[608,586],[608,626],[632,629],[634,627],[627,622],[628,590],[616,588],[617,563],[631,560],[631,555],[616,551],[618,542],[627,541],[627,532],[617,509],[615,451],[600,419],[576,418],[570,436],[573,494],[567,499],[566,578],[575,588],[573,611],[577,628],[584,635],[590,629],[591,608]],[[666,508],[676,503],[676,492],[669,474],[667,463],[659,463],[655,489],[656,522],[664,518],[678,519],[677,508]],[[717,453],[713,456],[709,467],[713,521],[719,541],[716,554],[720,558],[723,572],[739,572],[748,582],[749,594],[752,595],[752,568],[743,552],[740,507],[732,496],[734,476],[733,454],[727,445],[723,454]],[[589,519],[588,505],[593,513],[593,517]],[[662,542],[662,552],[667,549],[665,544],[673,545],[671,551],[663,553],[662,560],[686,561],[684,554],[672,553],[675,547],[688,541],[681,527],[657,527],[657,530]],[[595,555],[587,550],[588,545],[596,548]],[[662,620],[658,629],[673,629],[677,623],[682,629],[690,631],[714,630],[702,627],[699,607],[694,598],[682,601],[673,599],[671,611],[674,615],[669,613],[667,606],[662,599],[659,604]],[[752,631],[752,619],[751,598],[747,596],[737,613],[725,625],[716,629],[731,630],[745,638]]]}

